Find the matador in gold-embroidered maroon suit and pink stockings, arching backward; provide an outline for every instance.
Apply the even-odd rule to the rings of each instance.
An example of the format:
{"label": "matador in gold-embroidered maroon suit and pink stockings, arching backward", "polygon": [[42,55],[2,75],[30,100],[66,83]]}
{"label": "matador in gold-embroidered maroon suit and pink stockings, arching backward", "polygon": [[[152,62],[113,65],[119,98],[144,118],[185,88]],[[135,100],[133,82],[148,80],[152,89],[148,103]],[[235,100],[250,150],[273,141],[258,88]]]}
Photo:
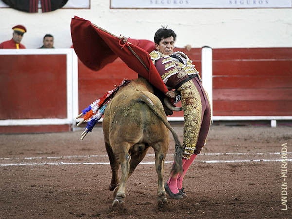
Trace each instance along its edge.
{"label": "matador in gold-embroidered maroon suit and pink stockings, arching backward", "polygon": [[[183,174],[171,174],[165,190],[171,198],[183,199],[183,178],[205,145],[210,128],[211,111],[208,95],[192,61],[183,52],[173,52],[176,34],[167,28],[158,29],[154,36],[156,50],[150,53],[158,73],[167,87],[181,94],[184,113]],[[174,98],[175,93],[167,95]]]}

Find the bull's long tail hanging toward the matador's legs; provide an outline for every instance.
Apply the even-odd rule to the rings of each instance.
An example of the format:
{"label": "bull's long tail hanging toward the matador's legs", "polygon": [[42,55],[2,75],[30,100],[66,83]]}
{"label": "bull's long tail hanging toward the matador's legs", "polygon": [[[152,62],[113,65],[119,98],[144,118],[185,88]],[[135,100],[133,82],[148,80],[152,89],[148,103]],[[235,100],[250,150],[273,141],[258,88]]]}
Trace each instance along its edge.
{"label": "bull's long tail hanging toward the matador's legs", "polygon": [[143,91],[141,91],[142,94],[140,96],[140,101],[143,101],[144,103],[147,104],[147,106],[153,111],[153,113],[164,123],[164,125],[170,130],[172,133],[174,142],[175,142],[175,153],[174,153],[174,164],[172,165],[171,171],[173,172],[173,175],[176,175],[177,173],[182,173],[183,172],[183,162],[182,162],[182,157],[183,157],[183,147],[180,143],[178,135],[175,133],[167,119],[164,117],[164,110],[159,110],[157,106],[154,105],[152,100],[147,97]]}

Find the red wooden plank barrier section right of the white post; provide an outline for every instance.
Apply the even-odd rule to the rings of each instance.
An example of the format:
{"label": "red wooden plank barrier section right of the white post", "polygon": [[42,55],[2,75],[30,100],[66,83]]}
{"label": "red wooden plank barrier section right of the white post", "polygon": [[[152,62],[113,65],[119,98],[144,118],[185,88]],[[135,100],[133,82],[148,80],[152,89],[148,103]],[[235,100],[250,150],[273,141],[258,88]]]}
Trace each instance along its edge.
{"label": "red wooden plank barrier section right of the white post", "polygon": [[291,116],[292,48],[213,50],[214,116]]}

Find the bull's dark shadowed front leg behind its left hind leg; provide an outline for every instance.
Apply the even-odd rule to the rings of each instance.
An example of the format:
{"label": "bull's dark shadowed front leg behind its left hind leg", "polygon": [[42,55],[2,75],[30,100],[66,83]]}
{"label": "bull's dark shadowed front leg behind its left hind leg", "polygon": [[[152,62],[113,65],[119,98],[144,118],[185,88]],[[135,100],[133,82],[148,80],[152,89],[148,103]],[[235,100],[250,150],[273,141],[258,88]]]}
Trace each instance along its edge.
{"label": "bull's dark shadowed front leg behind its left hind leg", "polygon": [[117,160],[115,159],[115,156],[113,154],[110,144],[107,141],[105,141],[105,145],[106,145],[106,150],[110,159],[110,167],[112,171],[110,191],[113,191],[117,187],[117,185],[120,183],[119,176],[118,176],[119,164]]}

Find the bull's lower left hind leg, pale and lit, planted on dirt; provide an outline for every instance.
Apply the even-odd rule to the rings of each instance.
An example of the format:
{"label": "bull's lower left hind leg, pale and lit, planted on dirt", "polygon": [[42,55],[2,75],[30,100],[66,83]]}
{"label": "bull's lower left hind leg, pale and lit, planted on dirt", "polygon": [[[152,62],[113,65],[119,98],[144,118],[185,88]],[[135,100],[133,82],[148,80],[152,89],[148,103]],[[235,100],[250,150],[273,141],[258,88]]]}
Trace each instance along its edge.
{"label": "bull's lower left hind leg, pale and lit, planted on dirt", "polygon": [[124,199],[126,197],[126,181],[128,179],[129,171],[130,171],[130,160],[131,156],[128,153],[128,150],[130,148],[128,143],[120,144],[118,147],[115,148],[121,148],[121,151],[116,152],[114,151],[116,155],[116,159],[121,164],[121,181],[119,187],[117,187],[114,191],[116,193],[112,206],[116,207],[118,205],[124,206]]}

